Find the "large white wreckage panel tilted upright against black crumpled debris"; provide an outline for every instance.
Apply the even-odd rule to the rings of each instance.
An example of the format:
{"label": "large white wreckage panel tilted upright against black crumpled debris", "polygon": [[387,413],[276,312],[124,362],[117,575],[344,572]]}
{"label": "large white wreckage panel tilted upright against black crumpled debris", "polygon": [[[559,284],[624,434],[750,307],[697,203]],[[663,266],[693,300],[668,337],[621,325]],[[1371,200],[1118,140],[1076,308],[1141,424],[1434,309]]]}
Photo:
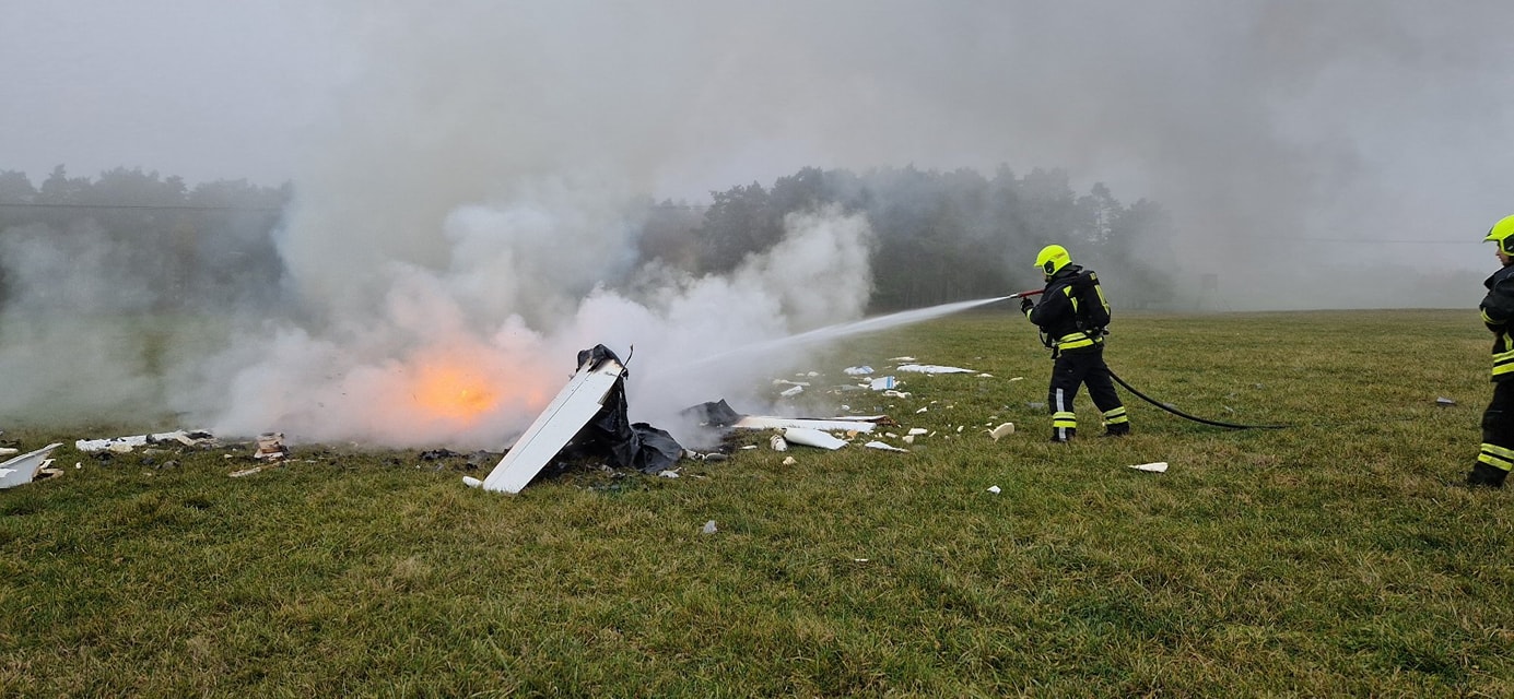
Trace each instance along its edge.
{"label": "large white wreckage panel tilted upright against black crumpled debris", "polygon": [[484,490],[519,493],[536,478],[547,463],[568,445],[568,440],[604,407],[604,398],[621,378],[625,366],[606,360],[598,368],[581,366],[568,386],[553,398],[531,427],[515,440],[515,446],[483,480]]}

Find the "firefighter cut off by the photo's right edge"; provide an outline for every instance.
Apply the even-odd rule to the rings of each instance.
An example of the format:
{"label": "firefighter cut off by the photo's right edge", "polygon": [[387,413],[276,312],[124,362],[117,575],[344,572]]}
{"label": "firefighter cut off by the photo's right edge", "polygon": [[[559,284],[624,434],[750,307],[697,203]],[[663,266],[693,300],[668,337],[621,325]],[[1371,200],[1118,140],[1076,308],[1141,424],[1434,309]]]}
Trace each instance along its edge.
{"label": "firefighter cut off by the photo's right edge", "polygon": [[1493,331],[1493,401],[1482,412],[1482,449],[1467,474],[1467,486],[1503,487],[1514,466],[1514,216],[1493,224],[1484,242],[1497,244],[1499,263],[1482,286],[1482,324]]}

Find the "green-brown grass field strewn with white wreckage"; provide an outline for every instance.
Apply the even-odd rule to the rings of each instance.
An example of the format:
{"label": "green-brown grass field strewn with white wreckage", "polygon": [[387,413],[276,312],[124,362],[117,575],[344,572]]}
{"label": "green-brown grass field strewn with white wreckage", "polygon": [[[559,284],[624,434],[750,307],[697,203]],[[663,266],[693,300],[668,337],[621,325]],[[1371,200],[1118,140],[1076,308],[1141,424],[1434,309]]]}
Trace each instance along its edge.
{"label": "green-brown grass field strewn with white wreckage", "polygon": [[[1514,696],[1514,490],[1461,486],[1491,390],[1476,312],[1116,319],[1142,392],[1285,430],[1122,390],[1134,436],[1092,437],[1083,395],[1087,437],[1046,443],[1049,360],[1013,312],[816,369],[901,354],[992,374],[834,398],[936,431],[911,454],[736,451],[518,496],[415,451],[227,478],[247,445],[100,461],[73,440],[112,434],[0,425],[67,466],[0,492],[0,694]],[[1170,469],[1126,468],[1148,461]]]}

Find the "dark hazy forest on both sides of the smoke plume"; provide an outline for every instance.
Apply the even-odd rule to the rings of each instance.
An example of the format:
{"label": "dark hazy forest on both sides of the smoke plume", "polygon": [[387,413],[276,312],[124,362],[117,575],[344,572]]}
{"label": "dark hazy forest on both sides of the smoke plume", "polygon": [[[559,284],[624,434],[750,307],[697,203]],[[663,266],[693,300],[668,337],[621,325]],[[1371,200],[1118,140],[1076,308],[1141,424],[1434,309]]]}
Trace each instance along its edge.
{"label": "dark hazy forest on both sides of the smoke plume", "polygon": [[[277,231],[292,185],[220,180],[189,186],[180,177],[115,168],[70,177],[55,168],[41,183],[0,171],[0,303],[64,307],[68,298],[35,298],[17,289],[24,263],[67,265],[111,256],[111,274],[136,277],[139,294],[107,300],[115,310],[179,312],[221,304],[277,303],[283,265]],[[875,231],[871,310],[892,312],[987,298],[1040,286],[1036,251],[1061,244],[1073,260],[1099,271],[1123,307],[1172,303],[1170,275],[1139,263],[1163,259],[1169,218],[1160,204],[1123,204],[1104,185],[1073,191],[1060,169],[992,177],[974,169],[804,168],[771,186],[752,182],[712,191],[689,206],[646,198],[631,204],[642,222],[642,263],[690,274],[722,274],[783,238],[784,216],[822,207],[861,213]],[[29,242],[32,245],[21,245]],[[56,251],[42,260],[41,248]],[[6,259],[9,257],[9,259]],[[1170,259],[1170,253],[1166,254]],[[109,304],[107,304],[109,306]]]}

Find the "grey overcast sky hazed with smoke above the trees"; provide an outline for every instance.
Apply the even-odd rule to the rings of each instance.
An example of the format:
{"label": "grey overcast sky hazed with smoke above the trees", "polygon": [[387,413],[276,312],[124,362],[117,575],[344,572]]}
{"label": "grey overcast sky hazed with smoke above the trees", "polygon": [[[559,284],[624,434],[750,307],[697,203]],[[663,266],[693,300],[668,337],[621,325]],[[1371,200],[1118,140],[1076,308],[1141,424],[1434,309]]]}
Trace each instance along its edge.
{"label": "grey overcast sky hazed with smoke above the trees", "polygon": [[696,198],[807,165],[1055,166],[1157,198],[1205,265],[1290,239],[1485,268],[1514,212],[1500,0],[0,8],[0,169],[33,182],[472,157]]}

